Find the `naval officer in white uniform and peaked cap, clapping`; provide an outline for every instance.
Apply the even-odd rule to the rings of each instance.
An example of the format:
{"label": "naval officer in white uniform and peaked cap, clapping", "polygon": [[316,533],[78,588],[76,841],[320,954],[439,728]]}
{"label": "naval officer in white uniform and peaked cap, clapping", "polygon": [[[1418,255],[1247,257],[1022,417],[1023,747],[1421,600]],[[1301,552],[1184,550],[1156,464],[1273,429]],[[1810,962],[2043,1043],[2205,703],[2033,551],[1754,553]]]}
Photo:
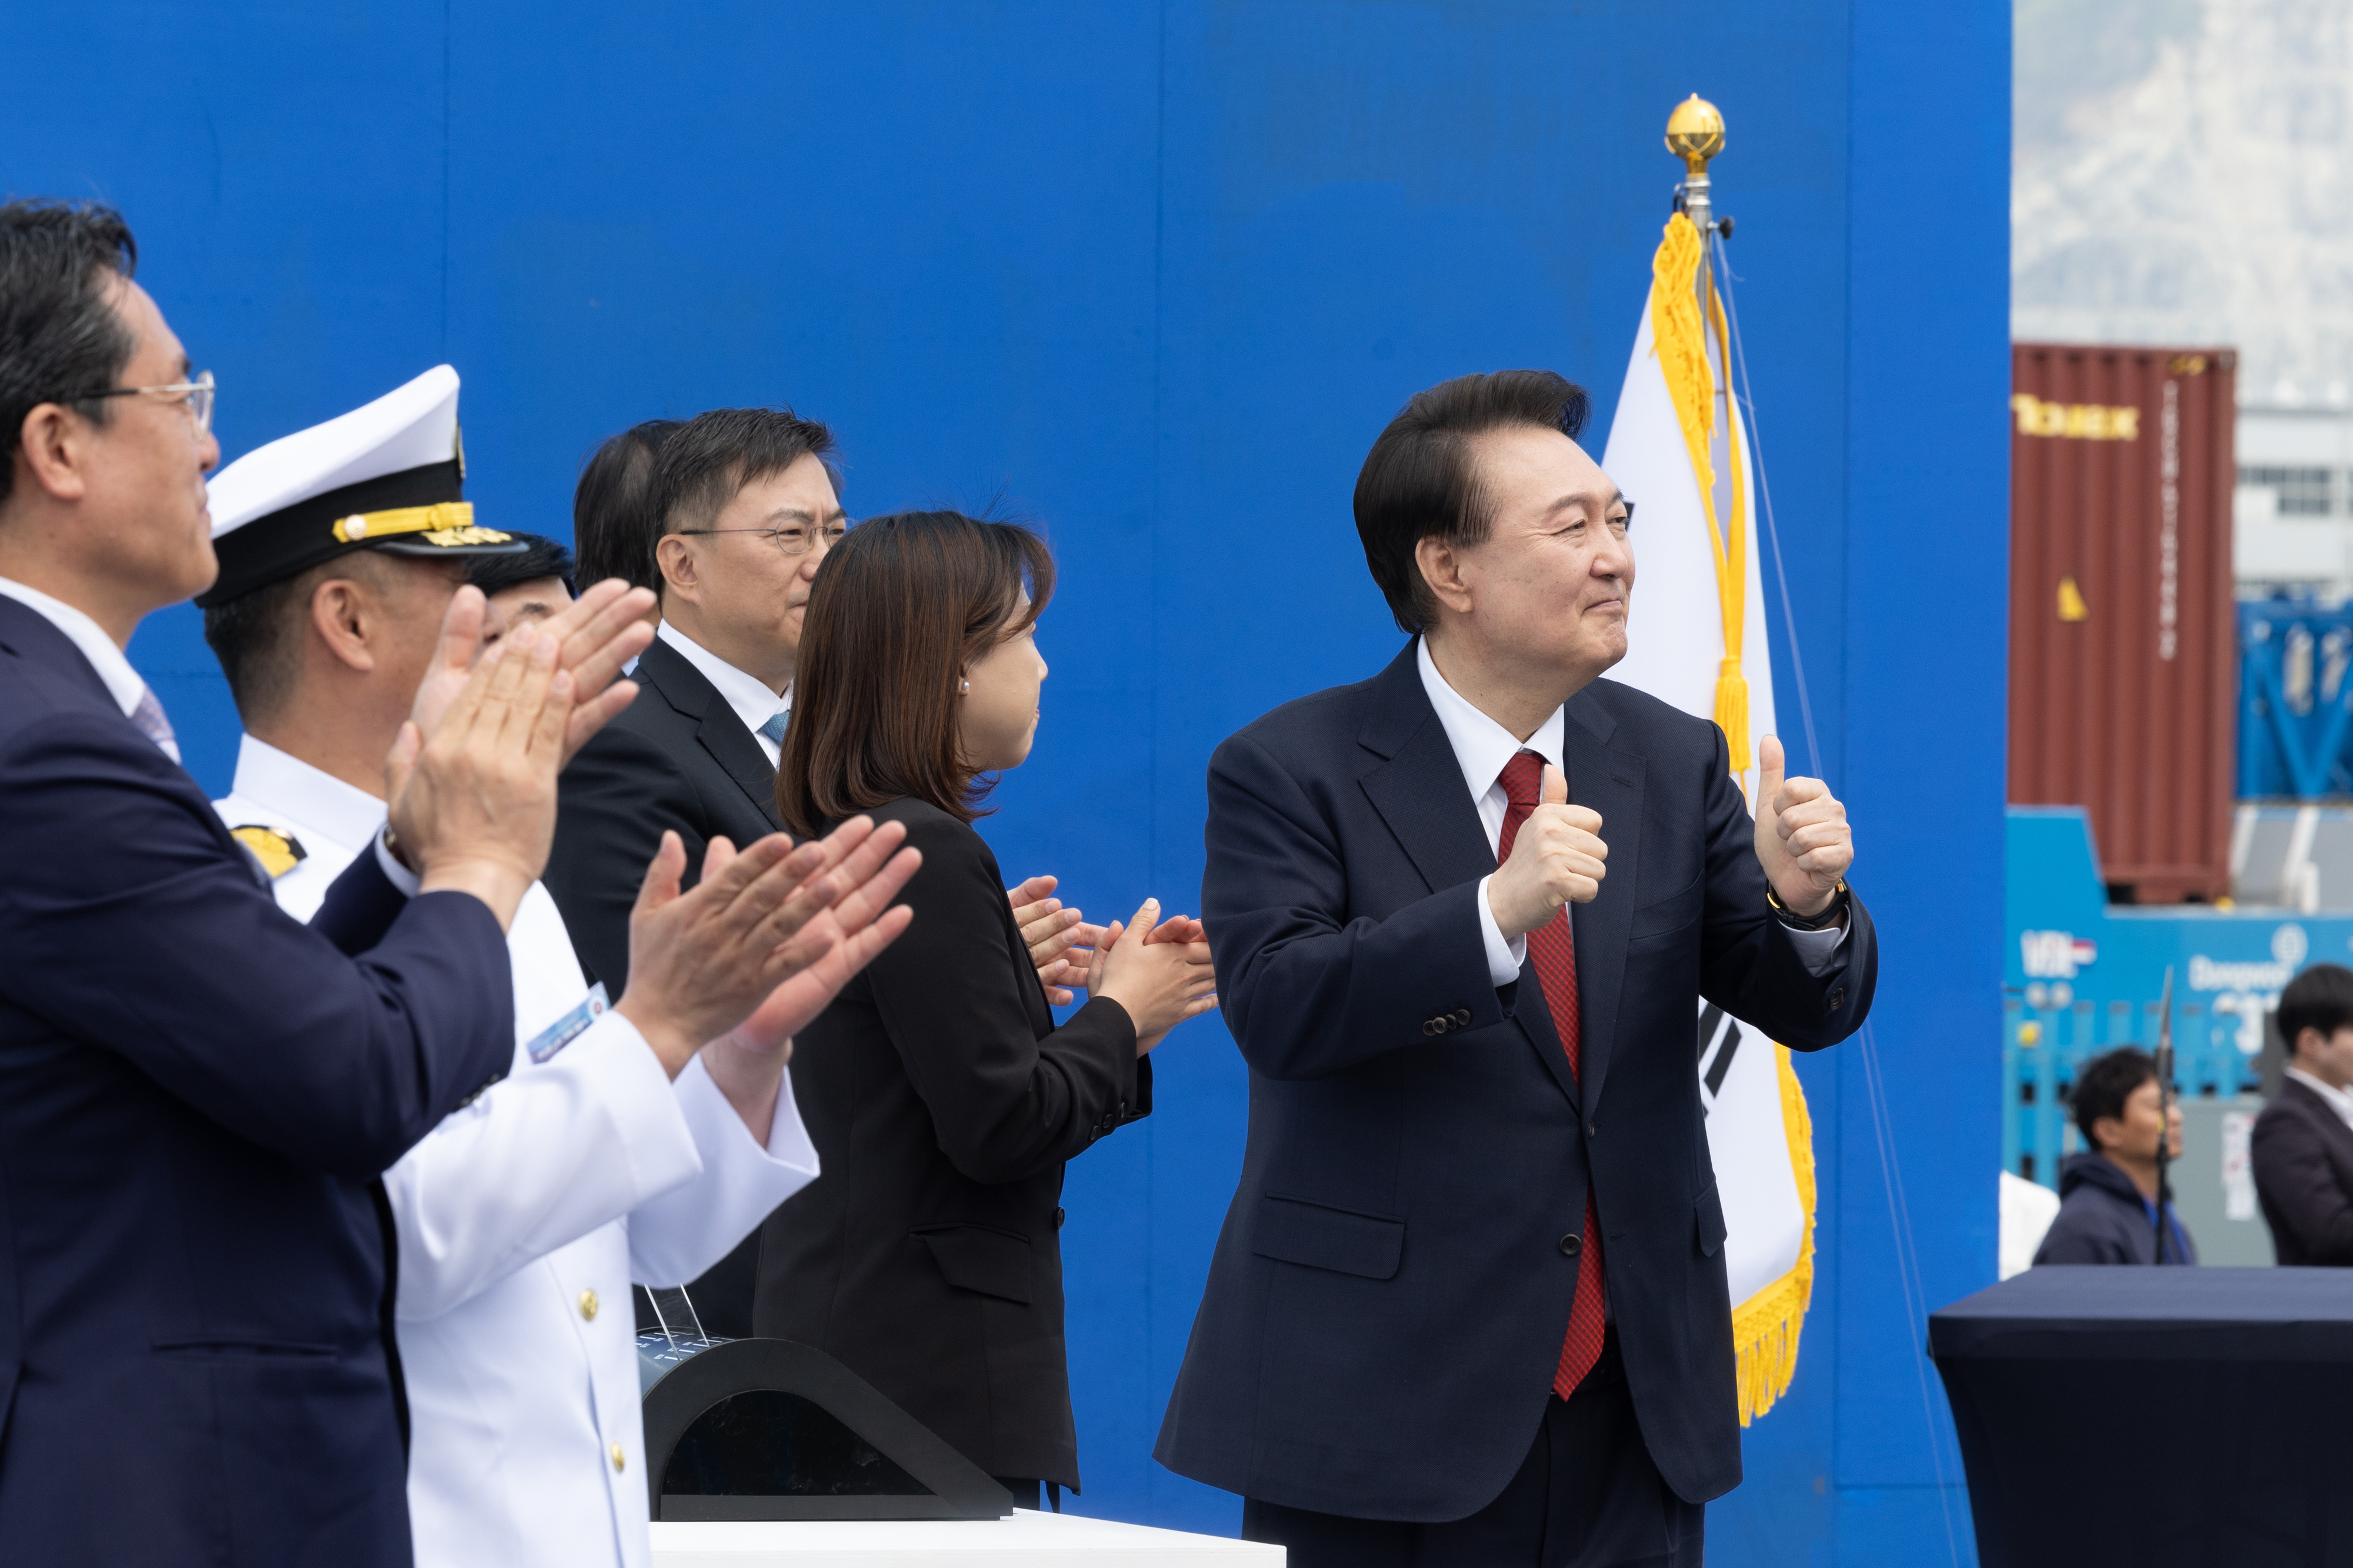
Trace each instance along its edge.
{"label": "naval officer in white uniform and peaked cap, clapping", "polygon": [[[438,367],[212,483],[221,586],[205,631],[247,723],[216,808],[296,918],[384,822],[367,758],[449,657],[461,556],[508,544],[473,525],[459,476],[456,372]],[[289,530],[318,537],[329,516],[346,549],[289,556]],[[546,888],[522,899],[508,951],[508,1078],[386,1172],[416,1561],[642,1568],[631,1281],[701,1274],[816,1177],[816,1151],[788,1074],[765,1099],[722,1090],[727,1041],[673,1081],[588,986]],[[769,1050],[793,1024],[774,1005],[762,1022]]]}

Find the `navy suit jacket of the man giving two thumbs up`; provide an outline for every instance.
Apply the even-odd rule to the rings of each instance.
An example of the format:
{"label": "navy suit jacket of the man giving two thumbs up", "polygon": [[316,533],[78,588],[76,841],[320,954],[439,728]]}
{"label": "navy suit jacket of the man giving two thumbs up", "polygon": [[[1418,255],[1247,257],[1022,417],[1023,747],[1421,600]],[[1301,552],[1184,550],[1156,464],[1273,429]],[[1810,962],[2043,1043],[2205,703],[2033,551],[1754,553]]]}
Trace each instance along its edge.
{"label": "navy suit jacket of the man giving two thumbs up", "polygon": [[1407,645],[1209,760],[1202,921],[1249,1142],[1176,1391],[1169,1469],[1360,1519],[1464,1519],[1534,1441],[1591,1184],[1659,1474],[1739,1483],[1699,998],[1812,1050],[1871,1005],[1871,916],[1809,975],[1765,904],[1722,732],[1614,680],[1569,699],[1569,798],[1609,873],[1572,906],[1581,1076],[1534,970],[1497,989],[1494,871]]}

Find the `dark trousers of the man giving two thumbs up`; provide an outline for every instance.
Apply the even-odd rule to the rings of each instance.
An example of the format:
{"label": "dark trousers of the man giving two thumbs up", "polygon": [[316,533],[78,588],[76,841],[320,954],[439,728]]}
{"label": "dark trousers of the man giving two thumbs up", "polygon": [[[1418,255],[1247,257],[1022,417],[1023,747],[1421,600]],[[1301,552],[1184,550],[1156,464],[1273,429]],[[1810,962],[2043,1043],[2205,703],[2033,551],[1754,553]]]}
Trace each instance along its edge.
{"label": "dark trousers of the man giving two thumbs up", "polygon": [[1617,1330],[1577,1394],[1548,1398],[1501,1495],[1468,1519],[1398,1523],[1242,1500],[1242,1540],[1289,1568],[1699,1568],[1706,1509],[1659,1479],[1626,1391]]}

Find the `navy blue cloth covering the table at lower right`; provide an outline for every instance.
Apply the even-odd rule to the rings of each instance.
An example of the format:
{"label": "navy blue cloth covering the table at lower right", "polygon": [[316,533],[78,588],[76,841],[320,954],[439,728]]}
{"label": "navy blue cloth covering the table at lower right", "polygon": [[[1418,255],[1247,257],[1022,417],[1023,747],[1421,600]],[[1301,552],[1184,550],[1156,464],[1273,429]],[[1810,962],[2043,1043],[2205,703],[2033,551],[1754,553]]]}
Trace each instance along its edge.
{"label": "navy blue cloth covering the table at lower right", "polygon": [[2353,1566],[2353,1269],[2031,1269],[1927,1347],[1986,1568]]}

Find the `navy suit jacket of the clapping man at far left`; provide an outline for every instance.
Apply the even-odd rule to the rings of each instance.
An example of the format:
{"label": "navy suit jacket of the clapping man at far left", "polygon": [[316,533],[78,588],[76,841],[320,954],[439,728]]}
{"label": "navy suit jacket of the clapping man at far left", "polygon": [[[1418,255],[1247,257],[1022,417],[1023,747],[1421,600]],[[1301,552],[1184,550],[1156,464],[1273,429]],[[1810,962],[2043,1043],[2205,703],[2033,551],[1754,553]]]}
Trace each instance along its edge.
{"label": "navy suit jacket of the clapping man at far left", "polygon": [[372,1180],[513,1052],[480,899],[287,918],[0,598],[0,1561],[407,1568]]}

